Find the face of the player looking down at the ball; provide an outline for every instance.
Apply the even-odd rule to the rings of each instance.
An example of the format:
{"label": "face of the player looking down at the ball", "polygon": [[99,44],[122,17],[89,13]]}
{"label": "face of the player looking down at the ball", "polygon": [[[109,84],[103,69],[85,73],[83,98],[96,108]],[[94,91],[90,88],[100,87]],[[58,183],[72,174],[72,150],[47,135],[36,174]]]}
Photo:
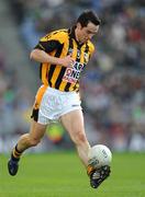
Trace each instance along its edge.
{"label": "face of the player looking down at the ball", "polygon": [[80,23],[77,24],[76,37],[79,43],[86,43],[91,39],[99,31],[99,25],[94,25],[89,22],[87,26],[81,26]]}

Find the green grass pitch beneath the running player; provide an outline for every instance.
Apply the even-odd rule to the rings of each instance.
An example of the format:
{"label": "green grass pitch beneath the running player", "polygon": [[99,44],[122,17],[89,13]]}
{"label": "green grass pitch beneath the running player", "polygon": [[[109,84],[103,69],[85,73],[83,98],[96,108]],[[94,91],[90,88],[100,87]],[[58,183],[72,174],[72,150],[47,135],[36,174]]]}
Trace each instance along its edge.
{"label": "green grass pitch beneath the running player", "polygon": [[98,189],[76,153],[24,155],[16,176],[0,155],[0,197],[145,197],[145,154],[114,153],[112,173]]}

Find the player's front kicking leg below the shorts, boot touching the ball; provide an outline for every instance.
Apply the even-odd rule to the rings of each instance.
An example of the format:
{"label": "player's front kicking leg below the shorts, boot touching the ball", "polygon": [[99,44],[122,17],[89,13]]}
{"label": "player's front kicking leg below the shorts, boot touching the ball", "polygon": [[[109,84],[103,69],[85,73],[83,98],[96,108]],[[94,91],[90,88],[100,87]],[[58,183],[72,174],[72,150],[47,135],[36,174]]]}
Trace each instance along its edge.
{"label": "player's front kicking leg below the shorts, boot touching the ball", "polygon": [[87,169],[91,187],[97,188],[109,176],[110,167],[102,166],[97,170],[93,167],[93,164],[88,164],[90,144],[86,137],[81,109],[76,109],[63,115],[60,120],[75,143],[80,160]]}

